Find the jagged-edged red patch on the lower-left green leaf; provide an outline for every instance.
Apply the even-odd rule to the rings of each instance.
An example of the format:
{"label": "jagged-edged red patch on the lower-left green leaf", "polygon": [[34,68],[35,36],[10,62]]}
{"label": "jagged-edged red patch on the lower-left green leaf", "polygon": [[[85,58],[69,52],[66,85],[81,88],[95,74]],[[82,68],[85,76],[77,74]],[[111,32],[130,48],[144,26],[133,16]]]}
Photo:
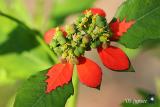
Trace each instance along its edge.
{"label": "jagged-edged red patch on the lower-left green leaf", "polygon": [[48,83],[46,93],[51,92],[58,86],[63,86],[64,84],[68,84],[68,82],[71,80],[72,72],[73,72],[72,64],[59,63],[54,65],[47,73],[47,76],[49,78],[46,80],[46,82]]}

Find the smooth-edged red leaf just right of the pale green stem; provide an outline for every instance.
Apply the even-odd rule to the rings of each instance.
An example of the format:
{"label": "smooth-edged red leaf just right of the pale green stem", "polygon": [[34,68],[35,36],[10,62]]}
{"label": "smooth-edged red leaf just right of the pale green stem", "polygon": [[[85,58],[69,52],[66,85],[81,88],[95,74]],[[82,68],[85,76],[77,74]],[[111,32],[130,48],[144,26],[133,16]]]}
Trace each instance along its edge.
{"label": "smooth-edged red leaf just right of the pale green stem", "polygon": [[89,87],[100,86],[102,80],[101,68],[85,57],[80,57],[79,62],[79,65],[77,65],[79,80]]}

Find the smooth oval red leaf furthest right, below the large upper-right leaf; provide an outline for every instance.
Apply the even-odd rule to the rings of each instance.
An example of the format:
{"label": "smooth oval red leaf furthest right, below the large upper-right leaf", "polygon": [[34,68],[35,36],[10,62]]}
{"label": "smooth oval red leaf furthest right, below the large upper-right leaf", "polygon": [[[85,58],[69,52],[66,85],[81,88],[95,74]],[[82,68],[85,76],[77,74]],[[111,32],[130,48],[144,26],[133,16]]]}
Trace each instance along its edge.
{"label": "smooth oval red leaf furthest right, below the large upper-right leaf", "polygon": [[98,53],[107,68],[116,71],[129,69],[129,59],[120,48],[113,46],[106,49],[98,48]]}

